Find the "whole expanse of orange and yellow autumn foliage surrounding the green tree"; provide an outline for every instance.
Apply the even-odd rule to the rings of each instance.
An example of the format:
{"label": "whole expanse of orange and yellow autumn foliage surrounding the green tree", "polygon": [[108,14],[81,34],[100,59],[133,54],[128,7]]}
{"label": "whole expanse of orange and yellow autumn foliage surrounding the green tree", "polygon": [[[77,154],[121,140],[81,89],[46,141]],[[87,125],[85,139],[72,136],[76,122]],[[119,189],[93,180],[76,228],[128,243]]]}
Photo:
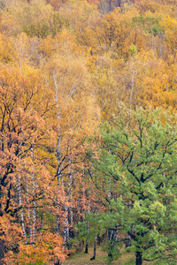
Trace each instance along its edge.
{"label": "whole expanse of orange and yellow autumn foliage surrounding the green tree", "polygon": [[0,243],[7,263],[63,261],[58,232],[106,196],[87,139],[137,106],[176,112],[176,0],[1,2]]}

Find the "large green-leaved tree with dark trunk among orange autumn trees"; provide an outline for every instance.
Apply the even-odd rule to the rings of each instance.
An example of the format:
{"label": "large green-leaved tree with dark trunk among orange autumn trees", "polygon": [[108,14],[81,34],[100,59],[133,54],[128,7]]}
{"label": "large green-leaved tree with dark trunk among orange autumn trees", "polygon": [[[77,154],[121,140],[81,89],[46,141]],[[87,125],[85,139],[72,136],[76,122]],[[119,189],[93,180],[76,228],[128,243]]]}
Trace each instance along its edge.
{"label": "large green-leaved tree with dark trunk among orange autumn trees", "polygon": [[127,249],[135,252],[136,265],[175,258],[175,122],[176,117],[162,110],[137,110],[131,119],[127,114],[114,125],[105,124],[98,159],[92,160],[97,188],[96,178],[102,175],[105,182],[111,179],[117,193],[99,222],[111,229],[119,223],[132,239]]}

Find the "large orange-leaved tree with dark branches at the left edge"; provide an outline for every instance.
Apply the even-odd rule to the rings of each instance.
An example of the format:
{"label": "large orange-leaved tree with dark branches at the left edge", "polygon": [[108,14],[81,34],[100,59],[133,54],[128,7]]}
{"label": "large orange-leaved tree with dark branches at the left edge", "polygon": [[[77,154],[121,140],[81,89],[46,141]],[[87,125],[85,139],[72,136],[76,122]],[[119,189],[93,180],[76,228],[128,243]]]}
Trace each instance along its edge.
{"label": "large orange-leaved tree with dark branches at the left edge", "polygon": [[[40,227],[39,208],[43,207],[40,201],[52,182],[50,164],[44,157],[48,153],[50,160],[51,152],[46,149],[52,146],[47,118],[51,105],[49,94],[43,90],[33,68],[1,64],[0,257],[7,262],[11,262],[13,252],[18,252],[19,241],[35,246]],[[46,144],[49,139],[50,146]]]}

